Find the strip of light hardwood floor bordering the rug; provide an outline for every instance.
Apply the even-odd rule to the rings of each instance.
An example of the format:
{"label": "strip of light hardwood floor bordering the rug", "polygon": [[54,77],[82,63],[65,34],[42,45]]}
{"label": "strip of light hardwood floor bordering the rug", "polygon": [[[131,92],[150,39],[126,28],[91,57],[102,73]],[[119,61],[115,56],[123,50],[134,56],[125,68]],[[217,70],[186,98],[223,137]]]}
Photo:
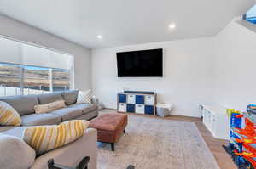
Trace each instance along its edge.
{"label": "strip of light hardwood floor bordering the rug", "polygon": [[[116,113],[116,110],[104,109],[102,110],[102,113]],[[125,115],[127,115],[127,113],[125,113]],[[137,115],[137,114],[129,113],[128,115]],[[211,132],[209,132],[207,130],[207,127],[205,127],[205,125],[201,122],[201,118],[178,116],[178,115],[170,115],[165,118],[153,116],[153,115],[147,115],[147,116],[150,118],[161,118],[161,119],[174,120],[174,121],[195,122],[196,126],[201,132],[201,136],[205,139],[209,149],[212,151],[212,155],[215,157],[220,168],[221,169],[237,168],[233,163],[233,161],[231,160],[230,156],[227,155],[224,149],[222,148],[222,145],[228,144],[228,141],[223,139],[213,138]]]}

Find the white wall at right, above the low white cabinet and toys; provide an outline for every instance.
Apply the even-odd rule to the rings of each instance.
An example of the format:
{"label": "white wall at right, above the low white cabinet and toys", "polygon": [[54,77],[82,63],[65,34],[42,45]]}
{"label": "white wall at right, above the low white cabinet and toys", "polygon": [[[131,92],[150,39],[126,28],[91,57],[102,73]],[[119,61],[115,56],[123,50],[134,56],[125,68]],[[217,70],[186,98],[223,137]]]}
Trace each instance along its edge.
{"label": "white wall at right, above the low white cabinet and toys", "polygon": [[215,37],[214,93],[218,104],[246,109],[256,101],[256,34],[232,21]]}

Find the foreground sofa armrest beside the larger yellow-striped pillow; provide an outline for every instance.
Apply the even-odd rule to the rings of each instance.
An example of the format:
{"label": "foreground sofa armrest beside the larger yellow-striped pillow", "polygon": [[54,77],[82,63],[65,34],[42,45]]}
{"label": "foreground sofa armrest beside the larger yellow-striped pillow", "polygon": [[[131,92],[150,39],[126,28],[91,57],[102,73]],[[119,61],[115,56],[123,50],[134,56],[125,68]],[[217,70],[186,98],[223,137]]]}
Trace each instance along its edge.
{"label": "foreground sofa armrest beside the larger yellow-striped pillow", "polygon": [[94,128],[89,128],[84,132],[84,136],[71,144],[54,149],[39,156],[33,163],[31,169],[46,169],[48,161],[54,159],[56,164],[76,167],[85,156],[90,157],[88,168],[96,169],[97,132]]}

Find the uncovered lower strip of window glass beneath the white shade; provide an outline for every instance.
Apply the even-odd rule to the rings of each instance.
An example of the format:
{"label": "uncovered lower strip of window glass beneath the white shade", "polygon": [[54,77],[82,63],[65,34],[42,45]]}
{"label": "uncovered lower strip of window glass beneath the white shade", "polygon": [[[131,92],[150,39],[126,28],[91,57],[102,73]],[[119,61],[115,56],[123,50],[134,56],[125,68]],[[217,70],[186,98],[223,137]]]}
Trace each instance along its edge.
{"label": "uncovered lower strip of window glass beneath the white shade", "polygon": [[69,70],[0,63],[0,96],[70,89]]}

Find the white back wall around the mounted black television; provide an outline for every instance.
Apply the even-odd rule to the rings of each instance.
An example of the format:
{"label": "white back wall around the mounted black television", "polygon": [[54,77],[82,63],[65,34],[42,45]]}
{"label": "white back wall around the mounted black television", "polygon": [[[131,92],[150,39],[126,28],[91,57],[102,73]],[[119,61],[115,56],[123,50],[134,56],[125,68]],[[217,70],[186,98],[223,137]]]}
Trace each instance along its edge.
{"label": "white back wall around the mounted black television", "polygon": [[[159,102],[172,103],[176,115],[199,116],[198,105],[211,102],[212,56],[211,37],[156,42],[92,51],[92,87],[108,108],[116,109],[117,92],[155,91]],[[149,48],[164,49],[163,78],[118,78],[116,52]]]}

